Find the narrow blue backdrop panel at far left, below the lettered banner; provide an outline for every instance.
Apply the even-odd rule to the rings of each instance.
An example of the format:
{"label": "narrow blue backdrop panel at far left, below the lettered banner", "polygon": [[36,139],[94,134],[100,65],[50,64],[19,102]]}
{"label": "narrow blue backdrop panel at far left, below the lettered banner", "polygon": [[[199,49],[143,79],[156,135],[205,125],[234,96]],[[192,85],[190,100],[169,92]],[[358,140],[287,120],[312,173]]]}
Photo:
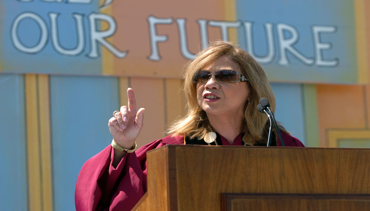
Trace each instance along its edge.
{"label": "narrow blue backdrop panel at far left, below the lettered banner", "polygon": [[1,210],[28,210],[24,77],[0,74]]}

